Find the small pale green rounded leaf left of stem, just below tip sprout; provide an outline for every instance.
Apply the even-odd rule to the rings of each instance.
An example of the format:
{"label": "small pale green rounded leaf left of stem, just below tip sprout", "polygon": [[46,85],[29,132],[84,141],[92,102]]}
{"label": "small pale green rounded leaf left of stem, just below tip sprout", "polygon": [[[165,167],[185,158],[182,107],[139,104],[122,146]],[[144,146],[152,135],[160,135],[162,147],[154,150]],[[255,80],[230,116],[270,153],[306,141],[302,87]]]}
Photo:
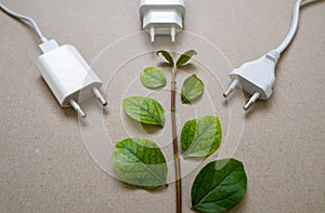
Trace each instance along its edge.
{"label": "small pale green rounded leaf left of stem, just below tip sprout", "polygon": [[150,89],[160,88],[166,85],[166,75],[164,69],[157,67],[147,67],[140,75],[142,84]]}

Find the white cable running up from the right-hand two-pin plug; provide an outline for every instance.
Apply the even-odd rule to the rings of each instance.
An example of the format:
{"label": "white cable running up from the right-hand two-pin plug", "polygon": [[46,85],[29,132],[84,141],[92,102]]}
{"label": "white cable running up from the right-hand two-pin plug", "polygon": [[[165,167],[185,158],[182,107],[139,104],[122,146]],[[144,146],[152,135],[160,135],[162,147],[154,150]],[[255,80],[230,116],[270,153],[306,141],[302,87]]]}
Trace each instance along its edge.
{"label": "white cable running up from the right-hand two-pin plug", "polygon": [[310,0],[298,0],[294,8],[294,14],[292,14],[292,21],[291,21],[291,27],[290,30],[285,38],[285,40],[275,49],[275,51],[281,54],[283,51],[285,51],[290,42],[292,41],[299,24],[299,16],[300,16],[300,8],[303,5],[304,2],[311,2]]}

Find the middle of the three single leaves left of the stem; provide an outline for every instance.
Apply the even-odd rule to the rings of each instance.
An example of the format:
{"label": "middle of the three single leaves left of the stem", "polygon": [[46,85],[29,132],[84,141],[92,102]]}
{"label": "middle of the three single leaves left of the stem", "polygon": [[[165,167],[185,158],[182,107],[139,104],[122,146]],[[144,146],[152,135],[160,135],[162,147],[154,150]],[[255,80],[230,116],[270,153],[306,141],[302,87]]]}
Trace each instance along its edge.
{"label": "middle of the three single leaves left of the stem", "polygon": [[145,124],[164,128],[165,110],[156,99],[133,96],[123,99],[122,105],[125,112],[132,119]]}

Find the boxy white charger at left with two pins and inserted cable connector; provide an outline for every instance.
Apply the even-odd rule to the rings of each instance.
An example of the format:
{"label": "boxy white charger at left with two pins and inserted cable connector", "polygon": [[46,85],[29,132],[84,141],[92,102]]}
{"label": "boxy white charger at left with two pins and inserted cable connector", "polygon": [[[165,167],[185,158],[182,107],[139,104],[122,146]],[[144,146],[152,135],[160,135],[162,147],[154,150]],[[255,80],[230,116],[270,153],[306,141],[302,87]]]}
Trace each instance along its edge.
{"label": "boxy white charger at left with two pins and inserted cable connector", "polygon": [[86,118],[78,103],[95,95],[103,106],[107,105],[99,91],[101,79],[73,45],[58,45],[55,40],[39,45],[43,54],[36,65],[62,107],[73,107]]}

